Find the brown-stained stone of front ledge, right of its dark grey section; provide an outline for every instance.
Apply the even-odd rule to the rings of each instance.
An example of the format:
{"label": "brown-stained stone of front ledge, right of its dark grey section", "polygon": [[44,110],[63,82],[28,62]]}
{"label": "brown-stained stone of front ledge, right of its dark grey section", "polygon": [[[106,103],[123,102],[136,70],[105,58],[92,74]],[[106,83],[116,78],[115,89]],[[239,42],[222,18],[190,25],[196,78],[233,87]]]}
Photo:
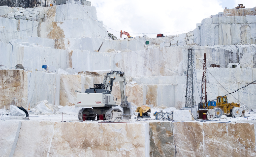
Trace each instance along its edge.
{"label": "brown-stained stone of front ledge, right of its dark grey section", "polygon": [[248,123],[176,122],[173,131],[178,157],[255,156],[254,125]]}

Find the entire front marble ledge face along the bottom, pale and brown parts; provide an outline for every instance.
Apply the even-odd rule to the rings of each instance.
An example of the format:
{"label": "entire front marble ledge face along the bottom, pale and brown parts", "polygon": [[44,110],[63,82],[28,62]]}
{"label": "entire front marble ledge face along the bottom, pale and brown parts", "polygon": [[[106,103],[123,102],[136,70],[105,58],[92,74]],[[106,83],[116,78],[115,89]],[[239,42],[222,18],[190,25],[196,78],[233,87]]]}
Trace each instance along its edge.
{"label": "entire front marble ledge face along the bottom, pale and brown parts", "polygon": [[0,156],[255,157],[248,122],[1,121]]}

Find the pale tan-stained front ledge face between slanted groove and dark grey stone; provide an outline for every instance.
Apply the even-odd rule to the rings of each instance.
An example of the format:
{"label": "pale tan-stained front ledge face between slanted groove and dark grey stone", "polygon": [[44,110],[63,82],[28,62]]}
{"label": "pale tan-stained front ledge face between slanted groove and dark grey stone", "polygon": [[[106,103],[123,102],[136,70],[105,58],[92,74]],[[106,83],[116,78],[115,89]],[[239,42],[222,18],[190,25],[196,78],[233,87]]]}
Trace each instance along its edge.
{"label": "pale tan-stained front ledge face between slanted groove and dark grey stone", "polygon": [[145,124],[26,121],[14,156],[146,157],[148,136]]}

